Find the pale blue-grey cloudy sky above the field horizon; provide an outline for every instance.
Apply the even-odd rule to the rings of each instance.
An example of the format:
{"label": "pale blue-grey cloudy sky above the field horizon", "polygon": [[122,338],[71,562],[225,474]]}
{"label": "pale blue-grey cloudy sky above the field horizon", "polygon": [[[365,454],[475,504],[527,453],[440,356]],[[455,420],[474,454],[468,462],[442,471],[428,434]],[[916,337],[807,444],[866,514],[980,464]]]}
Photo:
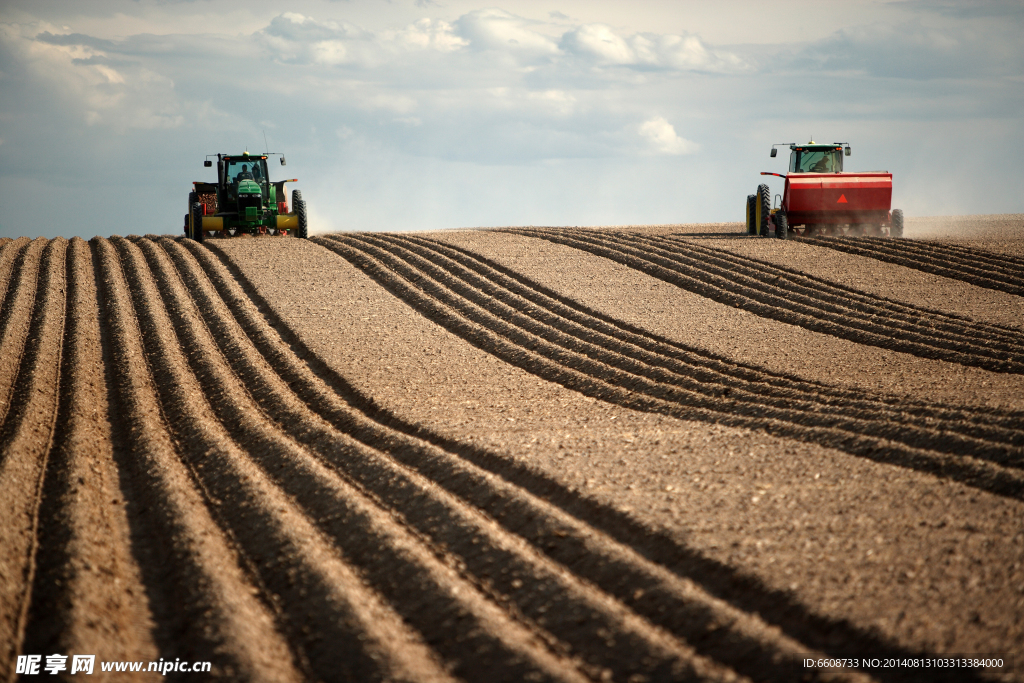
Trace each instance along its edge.
{"label": "pale blue-grey cloudy sky above the field horizon", "polygon": [[812,138],[908,217],[1021,213],[1021,35],[1020,0],[0,0],[0,237],[177,233],[207,155],[267,148],[313,232],[738,221]]}

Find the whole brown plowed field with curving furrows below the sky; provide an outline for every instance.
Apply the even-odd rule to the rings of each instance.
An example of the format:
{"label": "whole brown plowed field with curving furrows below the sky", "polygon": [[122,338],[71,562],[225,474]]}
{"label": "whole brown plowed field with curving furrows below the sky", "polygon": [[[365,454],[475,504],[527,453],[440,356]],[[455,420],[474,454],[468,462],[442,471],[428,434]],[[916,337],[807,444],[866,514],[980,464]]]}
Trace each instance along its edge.
{"label": "whole brown plowed field with curving furrows below the sky", "polygon": [[741,230],[0,241],[0,680],[1024,681],[1024,217]]}

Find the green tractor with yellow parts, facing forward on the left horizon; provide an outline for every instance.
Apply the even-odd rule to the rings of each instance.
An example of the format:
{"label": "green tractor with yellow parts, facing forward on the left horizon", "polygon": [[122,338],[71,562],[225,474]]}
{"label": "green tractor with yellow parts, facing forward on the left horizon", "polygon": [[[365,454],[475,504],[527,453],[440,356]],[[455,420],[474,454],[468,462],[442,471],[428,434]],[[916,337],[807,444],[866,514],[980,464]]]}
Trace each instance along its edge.
{"label": "green tractor with yellow parts, facing forward on the left horizon", "polygon": [[[298,189],[292,193],[291,212],[285,193],[285,183],[297,182],[298,178],[271,182],[266,165],[270,154],[217,155],[217,182],[197,180],[188,193],[185,237],[197,242],[203,242],[208,233],[307,238],[302,193]],[[286,165],[284,156],[281,165]],[[213,166],[209,157],[203,166]]]}

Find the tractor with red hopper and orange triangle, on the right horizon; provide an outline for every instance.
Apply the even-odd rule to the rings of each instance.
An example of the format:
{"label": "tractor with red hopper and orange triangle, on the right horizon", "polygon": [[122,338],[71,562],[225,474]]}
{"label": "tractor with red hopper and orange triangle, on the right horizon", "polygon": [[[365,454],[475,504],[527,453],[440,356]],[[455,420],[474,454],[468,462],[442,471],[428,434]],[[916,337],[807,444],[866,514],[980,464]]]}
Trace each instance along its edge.
{"label": "tractor with red hopper and orange triangle, on the right horizon", "polygon": [[[790,230],[811,234],[885,234],[903,237],[903,212],[890,211],[893,174],[888,171],[844,173],[843,157],[850,156],[849,142],[790,145],[790,172],[762,172],[785,180],[780,201],[772,208],[768,185],[758,185],[756,195],[746,197],[746,233],[763,238],[769,230],[785,240]],[[776,199],[780,196],[776,195]]]}

